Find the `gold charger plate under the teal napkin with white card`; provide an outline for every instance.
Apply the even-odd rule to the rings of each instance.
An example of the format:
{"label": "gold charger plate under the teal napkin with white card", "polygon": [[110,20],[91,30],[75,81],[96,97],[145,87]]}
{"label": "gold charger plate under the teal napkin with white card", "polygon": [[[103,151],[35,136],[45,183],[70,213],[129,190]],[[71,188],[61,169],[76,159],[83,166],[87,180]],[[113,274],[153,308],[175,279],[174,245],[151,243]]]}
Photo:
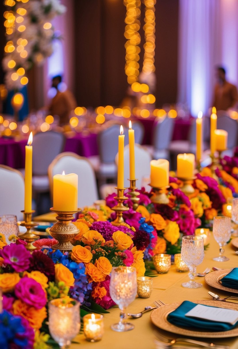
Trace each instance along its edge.
{"label": "gold charger plate under the teal napkin with white card", "polygon": [[[153,324],[155,326],[165,330],[165,331],[184,335],[184,336],[190,336],[190,337],[225,338],[225,337],[238,336],[238,327],[230,329],[230,331],[204,332],[204,331],[198,331],[197,328],[193,329],[193,328],[179,327],[179,326],[170,324],[170,322],[167,320],[169,313],[171,313],[172,311],[177,309],[177,307],[181,303],[182,302],[166,304],[166,305],[159,307],[158,309],[155,309],[150,314],[150,319],[153,322]],[[212,299],[211,300],[196,300],[196,301],[193,301],[193,303],[216,306],[218,308],[238,310],[238,304],[220,302],[219,300],[212,300]]]}

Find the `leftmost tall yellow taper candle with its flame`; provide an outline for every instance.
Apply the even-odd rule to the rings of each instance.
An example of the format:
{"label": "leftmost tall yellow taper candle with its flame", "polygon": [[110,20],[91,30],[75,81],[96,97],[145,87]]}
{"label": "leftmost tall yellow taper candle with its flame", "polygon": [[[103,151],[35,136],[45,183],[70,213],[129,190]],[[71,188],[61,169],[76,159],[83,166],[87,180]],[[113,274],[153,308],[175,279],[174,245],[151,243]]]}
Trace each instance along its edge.
{"label": "leftmost tall yellow taper candle with its flame", "polygon": [[32,132],[25,146],[25,212],[31,212],[32,201]]}

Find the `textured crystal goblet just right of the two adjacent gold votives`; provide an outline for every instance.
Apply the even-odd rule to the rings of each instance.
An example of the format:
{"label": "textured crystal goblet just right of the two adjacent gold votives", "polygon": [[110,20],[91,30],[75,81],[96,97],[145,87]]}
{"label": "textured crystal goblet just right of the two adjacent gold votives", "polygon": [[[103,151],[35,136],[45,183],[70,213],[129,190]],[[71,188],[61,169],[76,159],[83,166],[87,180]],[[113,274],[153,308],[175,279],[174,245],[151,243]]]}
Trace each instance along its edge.
{"label": "textured crystal goblet just right of the two adjacent gold votives", "polygon": [[189,267],[190,280],[182,283],[183,287],[199,288],[202,284],[195,282],[194,278],[197,275],[196,266],[201,264],[204,258],[203,237],[187,235],[182,238],[181,258]]}

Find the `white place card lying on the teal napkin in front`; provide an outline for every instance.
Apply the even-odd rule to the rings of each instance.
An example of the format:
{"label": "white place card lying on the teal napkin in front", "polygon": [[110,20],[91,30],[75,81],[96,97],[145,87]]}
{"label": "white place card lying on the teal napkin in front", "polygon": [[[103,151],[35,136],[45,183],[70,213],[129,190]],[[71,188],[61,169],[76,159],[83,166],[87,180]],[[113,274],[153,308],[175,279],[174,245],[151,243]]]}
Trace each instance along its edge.
{"label": "white place card lying on the teal napkin in front", "polygon": [[231,325],[235,325],[238,321],[237,310],[216,308],[202,304],[196,305],[193,309],[189,310],[185,316],[209,321],[226,322]]}

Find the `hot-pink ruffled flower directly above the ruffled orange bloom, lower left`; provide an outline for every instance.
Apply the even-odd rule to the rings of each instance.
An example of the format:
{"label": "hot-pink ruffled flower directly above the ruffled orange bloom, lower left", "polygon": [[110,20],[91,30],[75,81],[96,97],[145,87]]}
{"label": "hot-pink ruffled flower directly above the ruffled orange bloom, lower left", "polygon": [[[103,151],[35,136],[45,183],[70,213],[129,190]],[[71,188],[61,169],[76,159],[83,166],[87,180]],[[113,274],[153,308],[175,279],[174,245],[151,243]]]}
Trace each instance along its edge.
{"label": "hot-pink ruffled flower directly above the ruffled orange bloom, lower left", "polygon": [[17,298],[36,309],[41,309],[46,304],[45,291],[39,282],[30,277],[23,277],[16,284],[15,295]]}

